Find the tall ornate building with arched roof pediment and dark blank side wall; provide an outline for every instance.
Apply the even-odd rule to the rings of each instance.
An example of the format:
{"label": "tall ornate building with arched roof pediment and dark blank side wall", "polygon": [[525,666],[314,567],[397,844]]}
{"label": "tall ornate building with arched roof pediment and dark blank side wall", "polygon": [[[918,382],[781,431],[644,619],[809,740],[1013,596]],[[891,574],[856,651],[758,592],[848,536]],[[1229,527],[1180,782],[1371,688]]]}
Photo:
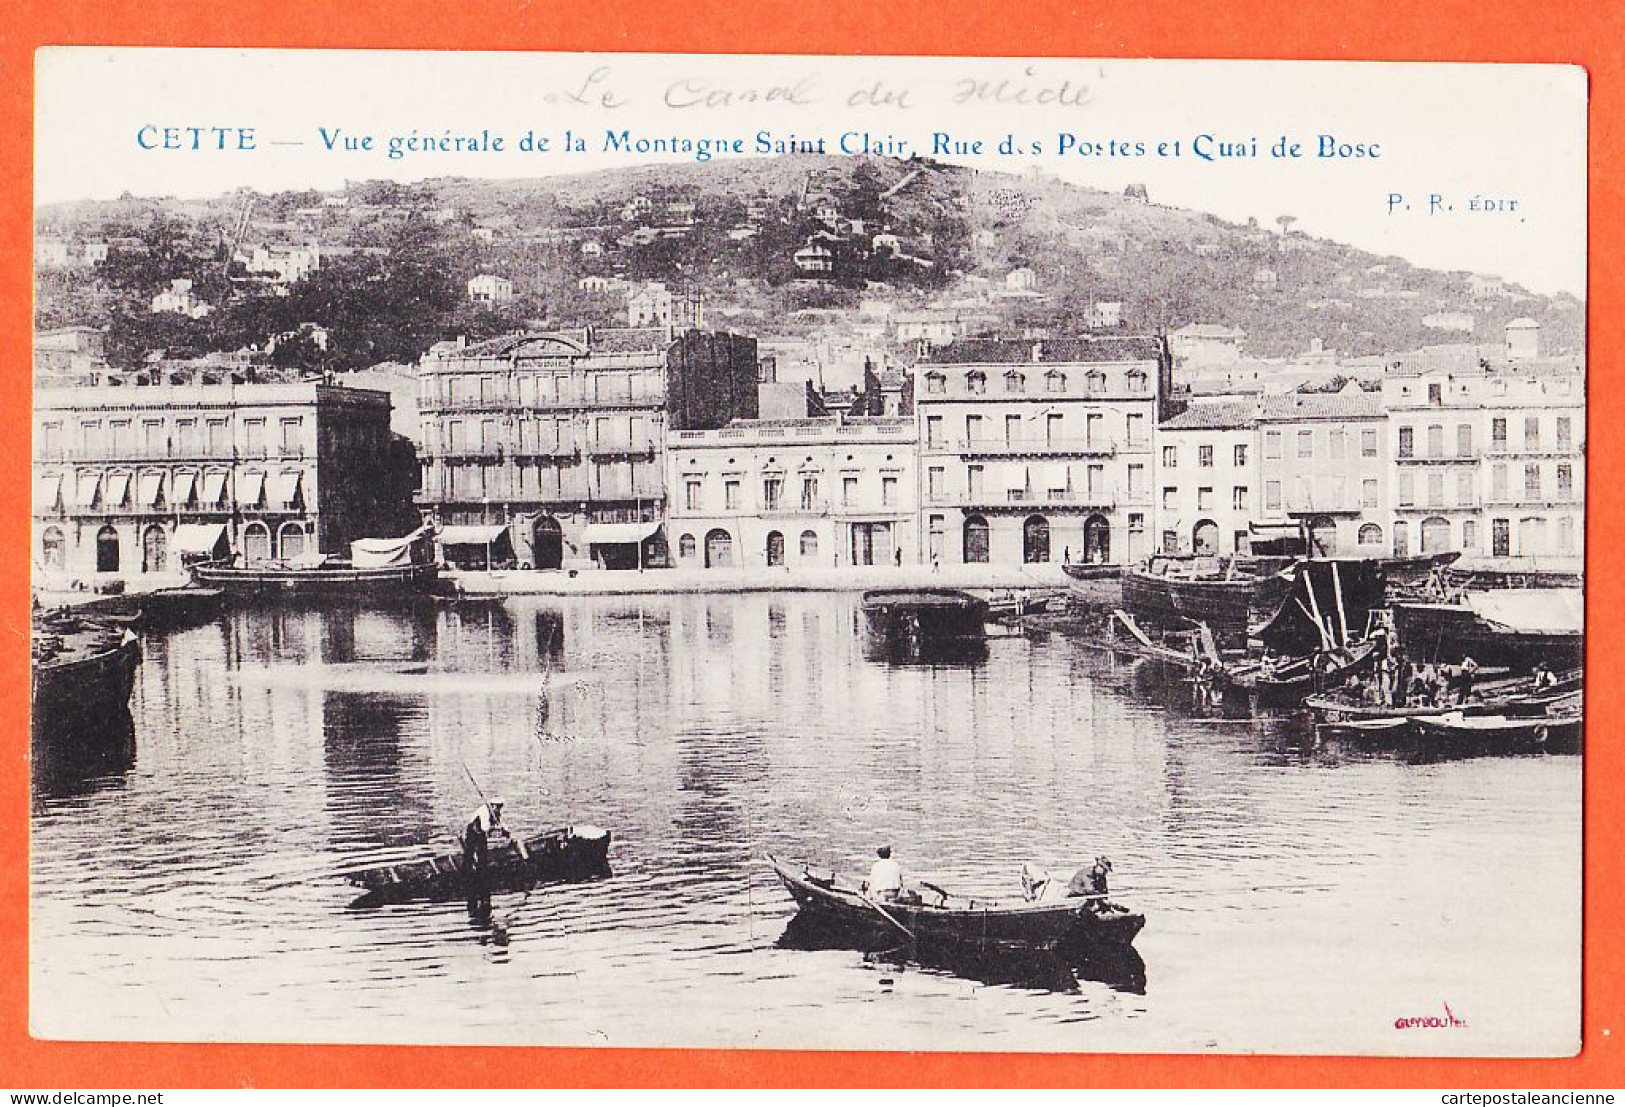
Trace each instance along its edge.
{"label": "tall ornate building with arched roof pediment and dark blank side wall", "polygon": [[444,343],[419,366],[421,504],[507,527],[523,567],[661,564],[668,431],[754,418],[756,340],[578,330]]}

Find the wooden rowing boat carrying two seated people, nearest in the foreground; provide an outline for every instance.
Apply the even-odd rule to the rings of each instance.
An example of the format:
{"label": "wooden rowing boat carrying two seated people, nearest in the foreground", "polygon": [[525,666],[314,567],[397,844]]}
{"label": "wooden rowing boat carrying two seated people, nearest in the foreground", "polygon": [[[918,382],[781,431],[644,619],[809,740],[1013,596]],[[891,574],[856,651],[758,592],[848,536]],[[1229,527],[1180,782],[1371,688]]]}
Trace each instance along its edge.
{"label": "wooden rowing boat carrying two seated people, nearest in the foreground", "polygon": [[938,894],[934,904],[878,902],[863,892],[842,888],[834,875],[800,873],[769,855],[774,873],[814,923],[842,930],[889,930],[913,943],[959,946],[1053,948],[1068,940],[1090,944],[1128,946],[1146,925],[1131,912],[1097,914],[1095,899],[1063,899],[1048,904],[1001,904],[996,901]]}

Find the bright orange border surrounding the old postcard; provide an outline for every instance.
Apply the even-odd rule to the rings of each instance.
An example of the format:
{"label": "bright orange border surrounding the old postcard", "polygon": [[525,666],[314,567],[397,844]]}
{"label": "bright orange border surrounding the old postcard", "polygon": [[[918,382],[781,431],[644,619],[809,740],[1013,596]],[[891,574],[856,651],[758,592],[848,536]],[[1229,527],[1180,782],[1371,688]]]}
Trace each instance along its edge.
{"label": "bright orange border surrounding the old postcard", "polygon": [[[390,1086],[1443,1086],[1622,1087],[1622,840],[1614,788],[1625,536],[1607,493],[1625,402],[1617,250],[1625,122],[1625,5],[1550,0],[10,0],[0,13],[0,1084],[86,1087]],[[1056,57],[1565,62],[1591,75],[1589,112],[1589,681],[1586,749],[1584,1050],[1544,1061],[972,1055],[730,1050],[132,1045],[28,1035],[28,548],[32,333],[32,52],[39,46],[258,46],[718,54],[957,54]],[[1521,156],[1508,145],[1506,158]],[[1625,250],[1622,250],[1625,252]],[[1602,476],[1602,480],[1597,480]],[[1425,842],[1417,849],[1427,849]],[[1402,865],[1404,858],[1396,857]],[[1508,873],[1508,910],[1516,909]],[[1531,943],[1542,941],[1537,933]],[[1245,988],[1246,982],[1238,980]]]}

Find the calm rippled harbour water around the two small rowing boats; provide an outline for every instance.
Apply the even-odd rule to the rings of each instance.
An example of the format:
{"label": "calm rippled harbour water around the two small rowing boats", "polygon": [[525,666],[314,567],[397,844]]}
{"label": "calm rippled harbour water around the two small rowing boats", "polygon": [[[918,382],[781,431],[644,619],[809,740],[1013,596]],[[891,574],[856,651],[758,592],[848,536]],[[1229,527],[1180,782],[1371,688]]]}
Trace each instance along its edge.
{"label": "calm rippled harbour water around the two small rowing boats", "polygon": [[[266,606],[143,647],[133,762],[36,785],[41,1037],[1578,1048],[1576,756],[1318,745],[1063,636],[892,663],[848,595]],[[450,849],[479,792],[611,827],[613,876],[348,907],[340,870]],[[1108,855],[1142,974],[785,948],[764,853],[856,878],[887,842],[1006,897]]]}

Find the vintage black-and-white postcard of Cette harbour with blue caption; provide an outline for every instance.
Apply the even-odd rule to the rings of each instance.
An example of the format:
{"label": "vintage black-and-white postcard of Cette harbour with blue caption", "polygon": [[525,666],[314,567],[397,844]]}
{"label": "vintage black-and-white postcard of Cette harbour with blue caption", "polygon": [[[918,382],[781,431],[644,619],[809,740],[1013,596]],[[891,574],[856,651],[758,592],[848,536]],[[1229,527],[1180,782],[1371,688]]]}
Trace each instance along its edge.
{"label": "vintage black-and-white postcard of Cette harbour with blue caption", "polygon": [[34,1035],[1580,1048],[1581,70],[36,86]]}

